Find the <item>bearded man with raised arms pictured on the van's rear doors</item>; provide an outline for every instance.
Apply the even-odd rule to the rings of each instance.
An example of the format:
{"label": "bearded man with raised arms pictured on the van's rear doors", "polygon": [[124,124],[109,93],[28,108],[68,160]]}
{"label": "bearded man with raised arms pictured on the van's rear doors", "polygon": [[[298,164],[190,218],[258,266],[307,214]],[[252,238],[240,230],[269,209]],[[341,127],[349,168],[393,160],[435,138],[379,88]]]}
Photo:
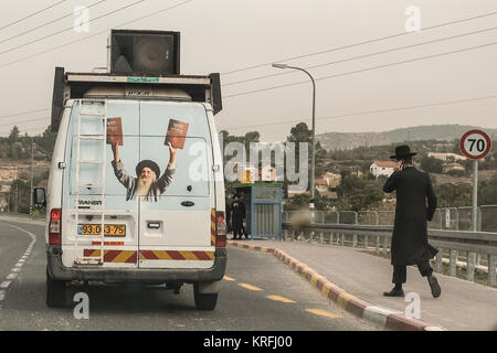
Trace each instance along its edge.
{"label": "bearded man with raised arms pictured on the van's rear doors", "polygon": [[[140,201],[155,201],[157,196],[162,194],[169,184],[173,180],[176,172],[176,153],[177,149],[169,147],[169,163],[165,173],[160,176],[160,168],[156,162],[150,160],[142,160],[136,165],[136,175],[134,178],[129,175],[124,169],[124,163],[119,158],[118,143],[113,145],[114,160],[112,165],[117,180],[126,188],[126,201],[140,200]],[[160,178],[159,178],[160,176]]]}

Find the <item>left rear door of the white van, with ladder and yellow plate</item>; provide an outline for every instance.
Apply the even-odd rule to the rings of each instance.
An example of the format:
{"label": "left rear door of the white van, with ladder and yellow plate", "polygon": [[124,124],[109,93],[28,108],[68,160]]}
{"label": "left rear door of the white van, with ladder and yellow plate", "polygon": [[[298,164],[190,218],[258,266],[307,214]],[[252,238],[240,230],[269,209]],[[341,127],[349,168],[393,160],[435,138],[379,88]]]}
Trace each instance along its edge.
{"label": "left rear door of the white van, with ladder and yellow plate", "polygon": [[[99,257],[102,249],[104,250],[104,261],[95,264],[97,266],[138,267],[138,202],[136,200],[126,201],[127,188],[116,178],[113,167],[114,153],[110,145],[106,143],[105,118],[101,116],[105,110],[107,120],[118,118],[121,121],[124,143],[118,146],[118,153],[121,159],[121,170],[129,178],[135,176],[134,170],[139,159],[138,101],[85,99],[74,103],[67,130],[66,168],[62,185],[62,258],[66,267],[85,265],[85,258]],[[84,114],[78,118],[80,111]],[[78,136],[80,151],[77,148]],[[101,139],[82,139],[82,136],[101,137]],[[104,157],[103,164],[95,163],[102,161]],[[78,162],[80,172],[77,173]],[[103,180],[102,168],[105,169],[105,180]],[[77,183],[94,186],[78,189],[78,204],[76,205]],[[104,189],[97,186],[102,184],[105,185]],[[99,234],[101,215],[98,212],[94,214],[91,212],[103,200],[102,190],[104,190],[105,196],[103,246],[98,236],[95,236]],[[78,214],[77,224],[76,213]]]}

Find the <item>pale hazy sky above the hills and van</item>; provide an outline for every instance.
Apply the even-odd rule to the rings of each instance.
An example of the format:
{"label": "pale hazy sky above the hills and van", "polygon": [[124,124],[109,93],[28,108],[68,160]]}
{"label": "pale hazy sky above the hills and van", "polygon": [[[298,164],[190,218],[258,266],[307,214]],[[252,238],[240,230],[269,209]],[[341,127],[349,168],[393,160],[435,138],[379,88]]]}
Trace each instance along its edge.
{"label": "pale hazy sky above the hills and van", "polygon": [[271,63],[316,79],[317,133],[497,128],[495,0],[0,0],[0,136],[42,132],[54,67],[106,66],[110,29],[180,31],[182,74],[221,73],[215,119],[232,135],[310,127],[310,78]]}

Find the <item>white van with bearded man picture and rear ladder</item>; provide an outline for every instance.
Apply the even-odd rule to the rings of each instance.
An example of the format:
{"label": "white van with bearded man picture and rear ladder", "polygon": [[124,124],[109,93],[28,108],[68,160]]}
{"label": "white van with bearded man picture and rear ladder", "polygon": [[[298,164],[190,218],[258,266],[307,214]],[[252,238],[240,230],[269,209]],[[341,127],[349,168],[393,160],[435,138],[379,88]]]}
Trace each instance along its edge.
{"label": "white van with bearded man picture and rear ladder", "polygon": [[[59,108],[57,108],[59,107]],[[55,71],[46,303],[70,281],[192,284],[215,308],[226,267],[219,75]],[[215,111],[214,111],[215,110]]]}

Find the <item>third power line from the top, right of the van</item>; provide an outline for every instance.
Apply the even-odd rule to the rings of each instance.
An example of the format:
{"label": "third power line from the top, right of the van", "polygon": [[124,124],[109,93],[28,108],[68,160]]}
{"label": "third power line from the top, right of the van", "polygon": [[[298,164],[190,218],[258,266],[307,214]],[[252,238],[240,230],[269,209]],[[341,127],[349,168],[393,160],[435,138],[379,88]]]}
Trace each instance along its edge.
{"label": "third power line from the top, right of the van", "polygon": [[[445,56],[445,55],[451,55],[451,54],[473,51],[473,50],[477,50],[477,49],[488,47],[488,46],[496,45],[496,44],[497,44],[497,42],[491,42],[491,43],[487,43],[487,44],[464,47],[464,49],[456,50],[456,51],[438,53],[438,54],[433,54],[433,55],[426,55],[426,56],[420,56],[420,57],[415,57],[415,58],[411,58],[411,60],[404,60],[404,61],[401,61],[401,62],[394,62],[394,63],[389,63],[389,64],[383,64],[383,65],[377,65],[377,66],[372,66],[372,67],[350,71],[350,72],[336,74],[336,75],[322,76],[322,77],[316,78],[315,81],[324,81],[324,79],[336,78],[336,77],[341,77],[341,76],[347,76],[347,75],[353,75],[353,74],[363,73],[363,72],[368,72],[368,71],[373,71],[373,69],[379,69],[379,68],[384,68],[384,67],[390,67],[390,66],[396,66],[396,65],[413,63],[413,62],[416,62],[416,61],[429,60],[429,58],[434,58],[434,57],[440,57],[440,56]],[[228,98],[232,98],[232,97],[239,97],[239,96],[245,96],[245,95],[251,95],[251,94],[261,93],[261,92],[273,90],[273,89],[277,89],[277,88],[290,87],[290,86],[302,85],[302,84],[306,84],[306,83],[308,83],[308,81],[300,81],[300,82],[296,82],[296,83],[292,83],[292,84],[285,84],[285,85],[279,85],[279,86],[272,86],[272,87],[261,88],[261,89],[253,89],[253,90],[247,90],[247,92],[242,92],[242,93],[239,93],[239,94],[224,96],[223,99],[228,99]]]}

